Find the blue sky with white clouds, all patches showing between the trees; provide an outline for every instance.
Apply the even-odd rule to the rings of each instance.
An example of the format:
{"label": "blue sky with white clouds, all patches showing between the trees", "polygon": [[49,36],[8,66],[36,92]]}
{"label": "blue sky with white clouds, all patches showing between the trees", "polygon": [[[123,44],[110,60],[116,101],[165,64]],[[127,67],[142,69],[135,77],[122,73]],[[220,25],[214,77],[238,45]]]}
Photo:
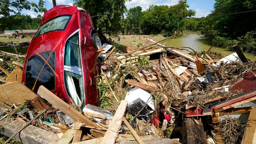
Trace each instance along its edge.
{"label": "blue sky with white clouds, all patches showing between the trees", "polygon": [[[47,10],[53,7],[52,0],[45,0]],[[149,5],[175,5],[178,3],[179,0],[131,0],[130,2],[126,2],[125,5],[127,9],[141,6],[142,11],[146,10]],[[57,5],[67,4],[72,5],[73,0],[56,0]],[[195,17],[205,17],[211,13],[213,10],[213,5],[215,0],[187,0],[189,9],[193,9],[196,11]],[[22,14],[31,15],[31,17],[35,18],[38,14],[43,15],[43,13],[35,13],[33,10],[22,10]]]}

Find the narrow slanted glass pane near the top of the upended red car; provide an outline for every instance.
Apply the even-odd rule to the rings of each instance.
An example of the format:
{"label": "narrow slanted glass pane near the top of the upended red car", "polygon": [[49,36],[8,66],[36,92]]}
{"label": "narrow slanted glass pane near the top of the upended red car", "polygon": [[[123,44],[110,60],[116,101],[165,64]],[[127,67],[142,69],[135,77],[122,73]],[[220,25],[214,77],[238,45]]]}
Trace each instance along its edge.
{"label": "narrow slanted glass pane near the top of the upended red car", "polygon": [[70,17],[70,15],[59,16],[46,22],[44,25],[40,27],[34,38],[47,32],[65,30],[68,25]]}

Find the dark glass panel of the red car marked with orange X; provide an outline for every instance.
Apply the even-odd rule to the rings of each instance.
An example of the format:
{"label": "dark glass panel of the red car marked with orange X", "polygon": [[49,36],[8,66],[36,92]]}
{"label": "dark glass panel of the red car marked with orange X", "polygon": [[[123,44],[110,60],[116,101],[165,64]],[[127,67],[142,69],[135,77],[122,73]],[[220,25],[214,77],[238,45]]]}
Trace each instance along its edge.
{"label": "dark glass panel of the red car marked with orange X", "polygon": [[55,51],[47,51],[28,58],[25,74],[25,85],[28,88],[34,92],[41,85],[50,91],[55,89],[55,57]]}

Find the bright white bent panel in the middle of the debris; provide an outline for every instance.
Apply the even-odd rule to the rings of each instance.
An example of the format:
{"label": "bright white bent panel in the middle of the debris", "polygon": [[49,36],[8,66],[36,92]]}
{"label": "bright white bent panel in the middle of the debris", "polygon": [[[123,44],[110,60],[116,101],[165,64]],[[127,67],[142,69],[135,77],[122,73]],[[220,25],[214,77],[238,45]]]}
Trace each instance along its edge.
{"label": "bright white bent panel in the middle of the debris", "polygon": [[[152,110],[155,109],[154,103],[153,103],[153,97],[150,95],[150,93],[148,91],[145,91],[141,88],[135,87],[126,93],[125,100],[128,100],[128,105],[133,104],[133,101],[135,101],[137,99],[141,99],[142,101],[147,103],[148,106],[150,108],[152,108]],[[147,100],[148,100],[148,102],[147,102]]]}

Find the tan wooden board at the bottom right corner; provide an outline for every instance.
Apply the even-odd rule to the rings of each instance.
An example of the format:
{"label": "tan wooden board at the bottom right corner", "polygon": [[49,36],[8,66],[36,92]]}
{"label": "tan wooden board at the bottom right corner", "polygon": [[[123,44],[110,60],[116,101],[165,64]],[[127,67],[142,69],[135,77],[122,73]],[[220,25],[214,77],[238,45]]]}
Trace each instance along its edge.
{"label": "tan wooden board at the bottom right corner", "polygon": [[256,108],[250,112],[247,126],[241,144],[255,144],[256,143]]}

